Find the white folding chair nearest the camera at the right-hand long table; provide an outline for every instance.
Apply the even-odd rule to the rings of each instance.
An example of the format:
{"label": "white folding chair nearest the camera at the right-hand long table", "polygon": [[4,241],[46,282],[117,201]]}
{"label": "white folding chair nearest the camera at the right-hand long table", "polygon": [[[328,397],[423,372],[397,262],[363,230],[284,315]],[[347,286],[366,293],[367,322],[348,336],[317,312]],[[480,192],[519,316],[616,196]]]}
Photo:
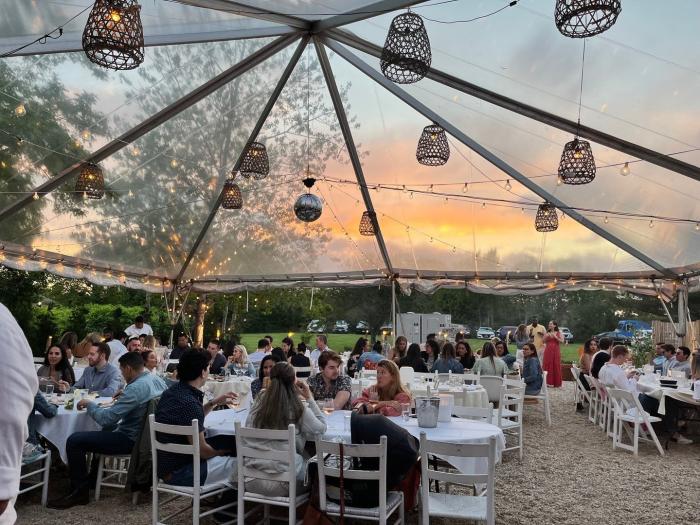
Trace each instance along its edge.
{"label": "white folding chair nearest the camera at the right-hand long table", "polygon": [[[613,405],[613,450],[622,448],[631,450],[636,456],[639,450],[639,440],[653,442],[657,450],[663,456],[664,449],[656,437],[656,432],[651,426],[652,423],[658,423],[661,418],[650,416],[647,414],[639,402],[639,398],[617,388],[608,388],[608,397]],[[633,430],[630,431],[629,426],[632,425]],[[623,443],[623,430],[632,444],[626,445]]]}

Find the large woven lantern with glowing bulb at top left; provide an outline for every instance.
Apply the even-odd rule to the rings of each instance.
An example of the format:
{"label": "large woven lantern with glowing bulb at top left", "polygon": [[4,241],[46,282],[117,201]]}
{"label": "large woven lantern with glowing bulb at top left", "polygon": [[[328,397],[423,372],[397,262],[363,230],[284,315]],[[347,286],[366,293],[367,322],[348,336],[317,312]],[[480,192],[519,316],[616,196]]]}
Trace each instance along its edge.
{"label": "large woven lantern with glowing bulb at top left", "polygon": [[83,30],[83,50],[98,66],[135,69],[144,57],[141,6],[136,0],[96,0]]}

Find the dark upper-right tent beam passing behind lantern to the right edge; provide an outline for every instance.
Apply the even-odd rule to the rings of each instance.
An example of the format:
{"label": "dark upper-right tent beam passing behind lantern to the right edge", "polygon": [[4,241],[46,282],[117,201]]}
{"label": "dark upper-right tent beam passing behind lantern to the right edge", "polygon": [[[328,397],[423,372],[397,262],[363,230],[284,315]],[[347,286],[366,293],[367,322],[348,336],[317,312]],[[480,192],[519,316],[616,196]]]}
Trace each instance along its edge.
{"label": "dark upper-right tent beam passing behind lantern to the right edge", "polygon": [[[368,42],[357,35],[349,33],[348,31],[331,29],[327,34],[343,44],[368,53],[377,58],[380,58],[382,55],[381,47]],[[573,120],[567,120],[559,115],[549,113],[515,99],[500,95],[494,91],[482,88],[476,84],[467,82],[461,78],[457,78],[449,73],[445,73],[435,68],[430,68],[426,77],[466,95],[476,97],[484,100],[485,102],[489,102],[514,113],[518,113],[519,115],[523,115],[538,122],[542,122],[543,124],[547,124],[548,126],[569,132],[572,135],[578,133],[580,137],[592,140],[593,142],[607,146],[608,148],[621,151],[632,157],[645,160],[650,164],[654,164],[661,168],[685,175],[693,180],[700,181],[700,167],[689,164],[677,158],[670,157],[665,153],[660,153],[658,151],[645,148],[644,146],[615,137],[614,135],[591,128],[590,126],[585,126],[583,124],[579,126],[578,123]]]}

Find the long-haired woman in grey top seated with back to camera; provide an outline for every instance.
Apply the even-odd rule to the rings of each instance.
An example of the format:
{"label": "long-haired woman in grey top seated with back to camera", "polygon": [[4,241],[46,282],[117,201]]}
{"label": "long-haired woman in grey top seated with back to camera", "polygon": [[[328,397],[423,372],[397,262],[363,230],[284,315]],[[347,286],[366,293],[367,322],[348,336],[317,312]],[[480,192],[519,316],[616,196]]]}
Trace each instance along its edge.
{"label": "long-haired woman in grey top seated with back to camera", "polygon": [[[296,378],[294,367],[289,363],[276,363],[270,371],[270,386],[255,400],[246,419],[246,426],[269,430],[287,430],[290,424],[296,432],[295,470],[298,480],[298,491],[305,491],[303,480],[308,455],[304,447],[307,441],[315,441],[326,433],[326,419],[314,401],[309,385],[304,380]],[[302,399],[306,402],[303,403]],[[279,441],[257,439],[246,443],[261,452],[279,451]],[[255,460],[249,468],[270,475],[284,474],[287,465],[278,460]],[[232,481],[237,481],[232,474]],[[289,485],[274,480],[252,480],[246,483],[246,491],[265,494],[266,496],[287,496]],[[299,493],[299,492],[297,492]]]}

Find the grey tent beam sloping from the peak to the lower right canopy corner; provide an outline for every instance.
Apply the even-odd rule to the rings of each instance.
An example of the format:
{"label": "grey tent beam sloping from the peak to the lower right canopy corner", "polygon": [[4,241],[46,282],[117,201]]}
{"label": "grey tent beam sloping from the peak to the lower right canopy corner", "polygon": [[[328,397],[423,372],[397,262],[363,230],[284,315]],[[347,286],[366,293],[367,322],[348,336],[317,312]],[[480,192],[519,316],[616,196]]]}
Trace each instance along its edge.
{"label": "grey tent beam sloping from the peak to the lower right canopy corner", "polygon": [[641,251],[637,250],[633,246],[629,245],[627,242],[624,240],[620,239],[619,237],[611,234],[607,230],[604,230],[600,226],[598,226],[596,223],[593,221],[589,220],[587,217],[584,215],[580,214],[578,211],[571,209],[565,202],[561,201],[558,197],[555,195],[549,193],[547,190],[543,189],[540,187],[538,184],[530,180],[528,177],[520,173],[518,170],[513,168],[510,164],[502,160],[500,157],[483,147],[481,144],[476,142],[474,139],[469,137],[466,133],[464,133],[462,130],[460,130],[458,127],[453,125],[450,121],[448,121],[446,118],[444,118],[442,115],[437,114],[430,108],[428,108],[425,104],[417,100],[415,97],[412,95],[408,94],[406,91],[404,91],[402,88],[400,88],[397,84],[394,84],[390,80],[388,80],[384,75],[382,75],[380,72],[375,70],[373,67],[371,67],[369,64],[364,62],[362,59],[360,59],[357,55],[354,53],[350,52],[348,49],[344,48],[342,45],[340,45],[337,42],[334,42],[332,40],[324,39],[324,43],[333,51],[335,51],[338,55],[343,57],[346,61],[348,61],[350,64],[355,66],[357,69],[359,69],[361,72],[366,74],[368,77],[370,77],[372,80],[380,84],[382,87],[384,87],[386,90],[394,94],[396,97],[404,101],[406,104],[411,106],[413,109],[421,113],[424,117],[426,117],[428,120],[435,122],[436,124],[439,124],[447,133],[455,137],[457,140],[459,140],[462,144],[467,146],[469,149],[474,151],[476,154],[484,158],[486,161],[490,162],[492,165],[494,165],[496,168],[500,169],[502,172],[508,174],[511,178],[517,180],[520,184],[528,188],[530,191],[533,193],[539,195],[542,199],[545,201],[553,204],[557,208],[566,210],[566,214],[569,215],[572,219],[578,221],[581,223],[583,226],[588,228],[589,230],[597,233],[604,239],[607,239],[611,243],[613,243],[615,246],[620,248],[621,250],[624,250],[625,252],[629,253],[633,257],[639,259],[642,261],[644,264],[647,266],[650,266],[651,268],[654,268],[658,272],[660,272],[662,275],[670,278],[674,278],[677,275],[669,270],[668,268],[664,267],[663,265],[659,264],[655,260],[653,260],[651,257],[647,256],[646,254],[642,253]]}

